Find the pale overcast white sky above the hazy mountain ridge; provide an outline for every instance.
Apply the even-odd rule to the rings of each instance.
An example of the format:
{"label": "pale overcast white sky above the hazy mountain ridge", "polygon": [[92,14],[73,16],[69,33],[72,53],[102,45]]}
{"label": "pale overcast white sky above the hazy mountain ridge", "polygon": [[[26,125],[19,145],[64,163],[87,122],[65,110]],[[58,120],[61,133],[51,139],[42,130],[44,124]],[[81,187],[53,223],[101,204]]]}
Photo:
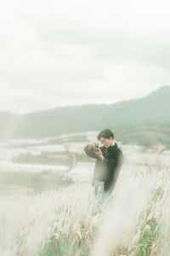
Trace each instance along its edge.
{"label": "pale overcast white sky above the hazy mountain ridge", "polygon": [[169,1],[0,3],[0,110],[110,104],[170,85]]}

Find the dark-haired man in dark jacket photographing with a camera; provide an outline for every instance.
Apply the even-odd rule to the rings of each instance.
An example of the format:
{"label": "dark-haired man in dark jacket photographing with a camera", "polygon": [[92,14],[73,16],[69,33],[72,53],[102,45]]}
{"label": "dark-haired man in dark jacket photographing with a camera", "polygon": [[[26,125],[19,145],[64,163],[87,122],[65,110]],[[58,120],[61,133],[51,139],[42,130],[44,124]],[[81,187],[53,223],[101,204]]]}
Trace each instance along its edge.
{"label": "dark-haired man in dark jacket photographing with a camera", "polygon": [[121,148],[114,142],[113,131],[110,129],[100,131],[97,138],[103,143],[103,146],[95,151],[94,148],[99,144],[92,142],[84,148],[84,151],[88,156],[96,159],[92,185],[97,201],[96,209],[97,212],[101,213],[105,199],[108,195],[111,195],[115,187],[124,157]]}

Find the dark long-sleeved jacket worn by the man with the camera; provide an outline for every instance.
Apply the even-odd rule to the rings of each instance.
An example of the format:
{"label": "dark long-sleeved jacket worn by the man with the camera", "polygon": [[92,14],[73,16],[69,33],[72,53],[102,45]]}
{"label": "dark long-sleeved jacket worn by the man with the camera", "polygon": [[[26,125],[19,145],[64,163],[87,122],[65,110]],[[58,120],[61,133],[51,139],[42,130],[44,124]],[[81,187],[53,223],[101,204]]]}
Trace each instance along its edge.
{"label": "dark long-sleeved jacket worn by the man with the camera", "polygon": [[117,143],[108,148],[108,154],[105,154],[105,146],[99,147],[105,158],[102,162],[99,156],[95,155],[93,148],[88,149],[88,145],[84,148],[85,153],[88,156],[96,159],[92,185],[94,186],[95,180],[105,181],[105,191],[110,191],[111,193],[115,187],[116,179],[122,168],[124,160],[122,150],[121,148],[118,148]]}

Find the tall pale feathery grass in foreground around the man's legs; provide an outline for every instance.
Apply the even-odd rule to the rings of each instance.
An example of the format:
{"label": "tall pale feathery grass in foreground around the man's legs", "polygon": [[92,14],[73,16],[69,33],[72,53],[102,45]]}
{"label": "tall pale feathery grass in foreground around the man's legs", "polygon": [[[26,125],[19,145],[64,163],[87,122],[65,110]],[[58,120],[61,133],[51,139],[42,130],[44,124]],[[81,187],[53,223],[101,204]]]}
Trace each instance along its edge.
{"label": "tall pale feathery grass in foreground around the man's legs", "polygon": [[165,166],[124,167],[100,216],[90,183],[1,197],[0,255],[167,256],[169,178]]}

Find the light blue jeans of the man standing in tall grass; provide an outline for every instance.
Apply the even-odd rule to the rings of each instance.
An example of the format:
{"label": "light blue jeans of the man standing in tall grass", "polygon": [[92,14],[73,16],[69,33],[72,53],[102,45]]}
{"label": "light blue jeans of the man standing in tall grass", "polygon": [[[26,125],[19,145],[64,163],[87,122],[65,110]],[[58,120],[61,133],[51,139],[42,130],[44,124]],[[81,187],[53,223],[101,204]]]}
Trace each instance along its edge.
{"label": "light blue jeans of the man standing in tall grass", "polygon": [[95,197],[95,208],[97,213],[102,212],[103,204],[109,195],[109,191],[104,190],[104,181],[94,181],[94,197]]}

